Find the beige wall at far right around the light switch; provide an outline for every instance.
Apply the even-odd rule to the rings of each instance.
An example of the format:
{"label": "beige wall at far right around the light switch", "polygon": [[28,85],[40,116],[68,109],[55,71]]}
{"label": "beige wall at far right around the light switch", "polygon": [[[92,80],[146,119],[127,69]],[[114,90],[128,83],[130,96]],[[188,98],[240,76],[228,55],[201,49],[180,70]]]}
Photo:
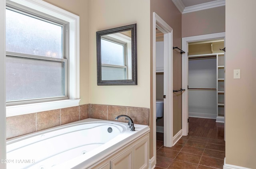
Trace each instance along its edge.
{"label": "beige wall at far right around the light switch", "polygon": [[[248,168],[256,168],[255,6],[226,0],[226,163]],[[241,79],[233,79],[234,69]]]}

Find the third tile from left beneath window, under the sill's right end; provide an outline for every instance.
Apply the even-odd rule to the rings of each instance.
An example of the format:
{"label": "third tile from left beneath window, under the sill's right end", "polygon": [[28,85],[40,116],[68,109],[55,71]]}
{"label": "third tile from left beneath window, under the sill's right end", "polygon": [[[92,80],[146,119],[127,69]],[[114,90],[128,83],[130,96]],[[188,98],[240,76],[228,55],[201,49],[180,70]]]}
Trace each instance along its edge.
{"label": "third tile from left beneath window, under the sill's right end", "polygon": [[61,125],[79,120],[79,106],[62,108],[61,110]]}

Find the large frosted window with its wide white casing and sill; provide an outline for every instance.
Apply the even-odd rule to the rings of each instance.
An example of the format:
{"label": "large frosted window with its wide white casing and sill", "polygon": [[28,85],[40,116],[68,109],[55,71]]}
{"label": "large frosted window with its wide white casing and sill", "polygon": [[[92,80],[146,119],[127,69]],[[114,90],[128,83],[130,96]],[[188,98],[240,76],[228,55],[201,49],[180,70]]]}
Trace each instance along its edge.
{"label": "large frosted window with its wide white casing and sill", "polygon": [[79,17],[31,2],[6,2],[6,116],[78,106],[80,100]]}

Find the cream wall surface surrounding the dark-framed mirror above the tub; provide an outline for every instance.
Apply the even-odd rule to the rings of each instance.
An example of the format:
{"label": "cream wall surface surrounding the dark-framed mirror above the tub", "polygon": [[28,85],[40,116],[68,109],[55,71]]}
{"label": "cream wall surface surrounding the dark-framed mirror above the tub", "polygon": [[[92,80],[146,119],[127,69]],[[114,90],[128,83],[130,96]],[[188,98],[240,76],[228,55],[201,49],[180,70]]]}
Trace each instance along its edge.
{"label": "cream wall surface surrounding the dark-framed mirror above the tub", "polygon": [[[150,2],[90,0],[90,103],[150,108]],[[98,86],[96,31],[137,24],[138,85]]]}

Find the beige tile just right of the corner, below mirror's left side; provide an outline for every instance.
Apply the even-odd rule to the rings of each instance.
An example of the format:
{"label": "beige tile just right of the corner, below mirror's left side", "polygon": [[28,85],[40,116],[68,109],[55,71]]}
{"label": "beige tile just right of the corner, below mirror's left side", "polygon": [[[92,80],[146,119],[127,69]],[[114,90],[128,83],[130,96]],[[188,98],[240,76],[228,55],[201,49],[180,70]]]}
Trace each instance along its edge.
{"label": "beige tile just right of the corner, below mirror's left side", "polygon": [[101,104],[91,104],[90,118],[108,120],[108,106]]}

